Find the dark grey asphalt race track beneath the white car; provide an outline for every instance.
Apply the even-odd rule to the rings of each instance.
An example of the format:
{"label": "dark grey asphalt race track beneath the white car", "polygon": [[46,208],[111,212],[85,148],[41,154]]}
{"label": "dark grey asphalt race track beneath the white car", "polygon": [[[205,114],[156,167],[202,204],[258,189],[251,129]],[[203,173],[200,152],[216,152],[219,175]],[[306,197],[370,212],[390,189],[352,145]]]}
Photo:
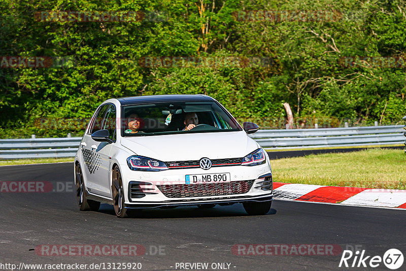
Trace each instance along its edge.
{"label": "dark grey asphalt race track beneath the white car", "polygon": [[[2,166],[0,181],[49,181],[56,187],[58,183],[73,183],[73,165]],[[233,205],[207,210],[157,209],[119,219],[112,206],[105,204],[98,212],[81,212],[72,187],[61,190],[0,193],[0,263],[140,262],[141,270],[176,270],[177,262],[208,262],[208,270],[212,270],[212,263],[224,262],[230,263],[230,270],[347,269],[338,267],[342,253],[244,256],[231,252],[235,244],[335,244],[342,249],[358,246],[365,255],[381,257],[388,249],[396,248],[406,256],[404,210],[274,200],[265,216],[247,216],[242,205]],[[139,244],[148,255],[41,256],[33,250],[39,245],[64,244]],[[161,255],[150,255],[154,246],[163,246]],[[398,270],[405,268],[406,261]],[[374,269],[388,270],[383,263]]]}

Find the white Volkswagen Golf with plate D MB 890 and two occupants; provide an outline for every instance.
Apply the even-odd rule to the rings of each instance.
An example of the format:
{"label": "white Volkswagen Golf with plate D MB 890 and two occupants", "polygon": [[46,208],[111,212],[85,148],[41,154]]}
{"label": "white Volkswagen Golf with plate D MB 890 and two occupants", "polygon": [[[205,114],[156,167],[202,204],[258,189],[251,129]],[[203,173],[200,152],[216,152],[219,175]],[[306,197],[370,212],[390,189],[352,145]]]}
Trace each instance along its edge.
{"label": "white Volkswagen Golf with plate D MB 890 and two occupants", "polygon": [[214,98],[156,95],[108,99],[92,116],[75,156],[80,210],[116,215],[150,208],[242,203],[249,215],[272,204],[267,153]]}

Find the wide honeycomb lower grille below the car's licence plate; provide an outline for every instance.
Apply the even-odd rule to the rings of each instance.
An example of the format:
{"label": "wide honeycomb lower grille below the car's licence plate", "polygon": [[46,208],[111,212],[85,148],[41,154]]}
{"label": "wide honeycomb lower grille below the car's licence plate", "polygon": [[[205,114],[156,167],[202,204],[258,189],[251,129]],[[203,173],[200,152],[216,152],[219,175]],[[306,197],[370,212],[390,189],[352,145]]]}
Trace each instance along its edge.
{"label": "wide honeycomb lower grille below the car's licence plate", "polygon": [[204,197],[247,193],[255,180],[211,184],[157,185],[166,197]]}

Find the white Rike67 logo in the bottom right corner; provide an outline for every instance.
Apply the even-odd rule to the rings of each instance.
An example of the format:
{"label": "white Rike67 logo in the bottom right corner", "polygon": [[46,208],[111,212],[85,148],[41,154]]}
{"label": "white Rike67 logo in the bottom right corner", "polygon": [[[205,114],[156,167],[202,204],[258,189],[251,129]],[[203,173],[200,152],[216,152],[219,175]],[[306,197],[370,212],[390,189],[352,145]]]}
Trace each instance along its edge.
{"label": "white Rike67 logo in the bottom right corner", "polygon": [[398,249],[389,249],[384,256],[366,256],[365,250],[344,250],[341,256],[339,267],[378,267],[382,263],[389,269],[398,269],[403,264],[403,254]]}

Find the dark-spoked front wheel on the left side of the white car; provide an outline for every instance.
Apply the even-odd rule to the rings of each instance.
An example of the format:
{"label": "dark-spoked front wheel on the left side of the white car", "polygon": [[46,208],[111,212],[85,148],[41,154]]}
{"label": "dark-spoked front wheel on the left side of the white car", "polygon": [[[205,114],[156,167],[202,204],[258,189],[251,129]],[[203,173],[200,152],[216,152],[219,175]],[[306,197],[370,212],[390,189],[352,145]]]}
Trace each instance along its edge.
{"label": "dark-spoked front wheel on the left side of the white car", "polygon": [[116,165],[113,169],[113,182],[111,186],[111,194],[113,197],[114,212],[118,218],[128,217],[127,209],[125,209],[125,197],[123,180],[121,179],[120,169]]}

